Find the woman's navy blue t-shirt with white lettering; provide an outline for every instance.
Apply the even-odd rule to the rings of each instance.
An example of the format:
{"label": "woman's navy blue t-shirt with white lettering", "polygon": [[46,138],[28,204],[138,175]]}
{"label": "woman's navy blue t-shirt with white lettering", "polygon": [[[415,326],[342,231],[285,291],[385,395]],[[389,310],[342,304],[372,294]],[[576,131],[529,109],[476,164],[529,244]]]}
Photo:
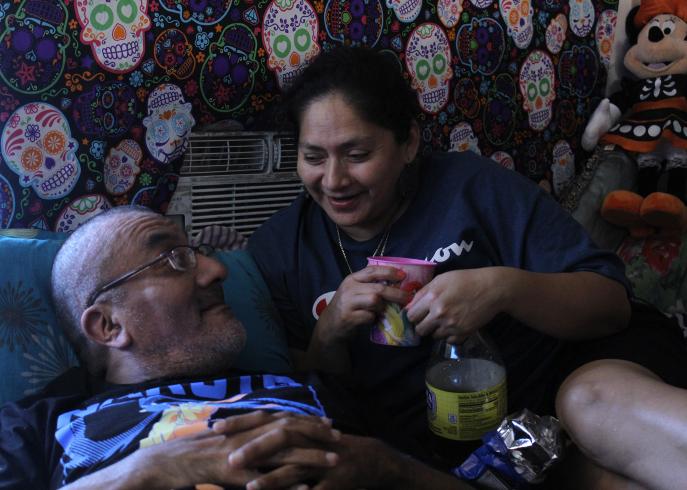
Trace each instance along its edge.
{"label": "woman's navy blue t-shirt with white lettering", "polygon": [[[380,235],[356,242],[341,233],[352,269],[362,269]],[[306,350],[319,313],[347,274],[333,222],[307,196],[276,213],[249,240],[287,329],[290,347]],[[583,228],[524,176],[471,152],[432,155],[418,190],[392,225],[385,254],[432,260],[436,274],[487,266],[534,272],[593,271],[623,284],[624,268],[598,249]],[[571,298],[574,301],[574,298]],[[508,370],[509,411],[537,410],[534,388],[551,375],[563,343],[506,315],[487,327]],[[424,421],[424,367],[431,339],[418,347],[369,341],[360,328],[350,344],[355,386],[392,439],[417,417]],[[387,427],[382,428],[381,425]]]}

